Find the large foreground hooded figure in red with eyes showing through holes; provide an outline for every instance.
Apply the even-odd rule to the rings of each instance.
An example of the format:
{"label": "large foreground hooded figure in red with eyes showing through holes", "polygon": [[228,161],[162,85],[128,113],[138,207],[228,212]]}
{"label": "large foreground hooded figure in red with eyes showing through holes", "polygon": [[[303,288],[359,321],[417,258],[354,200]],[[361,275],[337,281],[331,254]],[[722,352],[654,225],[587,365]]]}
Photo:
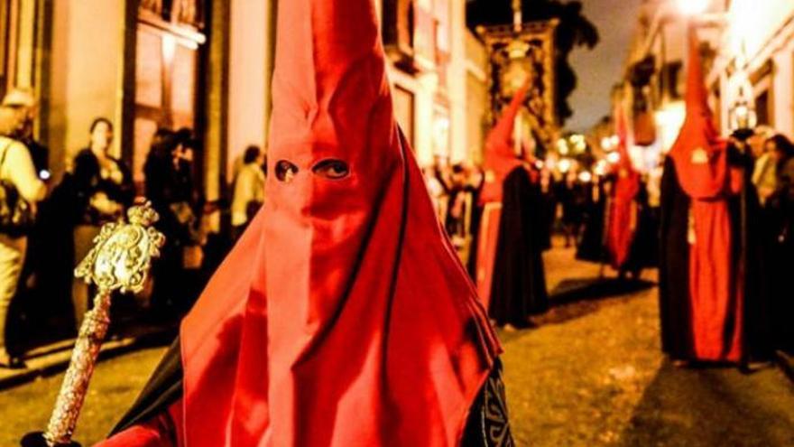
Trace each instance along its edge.
{"label": "large foreground hooded figure in red with eyes showing through holes", "polygon": [[394,120],[376,20],[372,0],[280,4],[268,200],[104,445],[510,438],[477,410],[503,409],[501,349]]}

